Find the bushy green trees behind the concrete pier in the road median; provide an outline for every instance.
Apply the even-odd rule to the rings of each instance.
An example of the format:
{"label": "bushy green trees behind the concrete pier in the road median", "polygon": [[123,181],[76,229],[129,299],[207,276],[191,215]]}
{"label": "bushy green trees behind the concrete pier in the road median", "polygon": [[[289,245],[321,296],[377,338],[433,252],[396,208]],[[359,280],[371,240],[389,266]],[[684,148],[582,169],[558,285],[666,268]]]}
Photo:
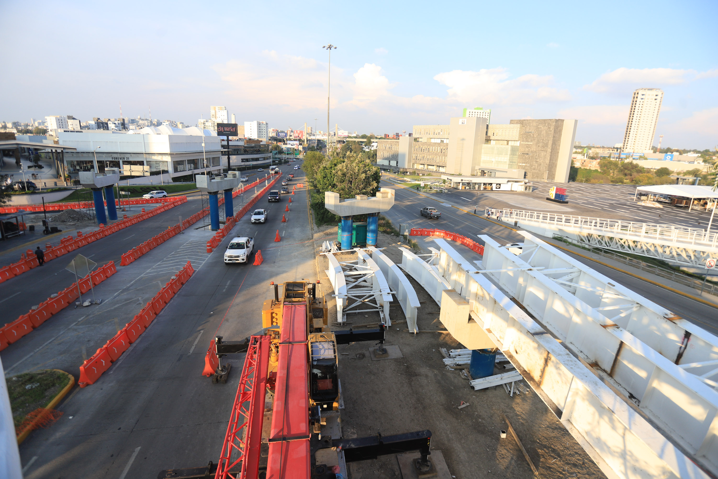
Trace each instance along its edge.
{"label": "bushy green trees behind the concrete pier in the road median", "polygon": [[[325,208],[324,194],[339,193],[343,199],[356,195],[374,196],[379,190],[381,170],[371,164],[361,147],[348,141],[341,149],[335,149],[325,157],[320,152],[307,152],[302,169],[307,182],[314,190],[310,206],[317,224],[335,223],[339,218]],[[358,151],[357,151],[358,147]],[[357,218],[361,220],[361,218]]]}

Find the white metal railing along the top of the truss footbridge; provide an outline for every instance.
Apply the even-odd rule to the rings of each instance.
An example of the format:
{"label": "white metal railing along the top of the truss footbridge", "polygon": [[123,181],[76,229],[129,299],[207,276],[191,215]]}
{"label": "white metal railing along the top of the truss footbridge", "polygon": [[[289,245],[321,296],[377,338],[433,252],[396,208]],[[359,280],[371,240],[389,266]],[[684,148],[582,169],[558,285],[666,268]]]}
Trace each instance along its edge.
{"label": "white metal railing along the top of the truss footbridge", "polygon": [[501,213],[503,218],[512,220],[532,221],[564,228],[577,228],[584,232],[605,235],[621,233],[635,236],[640,240],[673,241],[691,246],[718,246],[718,233],[708,232],[699,228],[686,228],[676,225],[660,225],[657,223],[638,223],[635,221],[610,220],[607,218],[591,218],[588,216],[561,215],[559,213],[541,213],[538,211],[513,210],[511,208],[486,208],[485,214],[495,216]]}

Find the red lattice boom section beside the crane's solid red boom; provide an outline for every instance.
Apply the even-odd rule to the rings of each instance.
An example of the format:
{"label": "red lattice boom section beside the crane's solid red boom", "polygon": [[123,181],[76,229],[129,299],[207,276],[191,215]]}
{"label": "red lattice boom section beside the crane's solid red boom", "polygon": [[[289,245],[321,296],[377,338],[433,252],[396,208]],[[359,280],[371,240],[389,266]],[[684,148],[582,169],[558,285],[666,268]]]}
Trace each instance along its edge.
{"label": "red lattice boom section beside the crane's solid red boom", "polygon": [[[258,475],[269,339],[269,336],[250,338],[215,479],[253,479]],[[237,473],[240,462],[241,470]]]}

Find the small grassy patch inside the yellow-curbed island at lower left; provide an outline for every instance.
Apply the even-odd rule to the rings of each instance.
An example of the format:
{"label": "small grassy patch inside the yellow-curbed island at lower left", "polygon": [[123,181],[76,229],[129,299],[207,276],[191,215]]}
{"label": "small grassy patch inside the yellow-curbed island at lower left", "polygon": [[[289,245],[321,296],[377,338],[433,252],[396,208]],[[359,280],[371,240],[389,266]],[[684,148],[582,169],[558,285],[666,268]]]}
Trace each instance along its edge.
{"label": "small grassy patch inside the yellow-curbed island at lower left", "polygon": [[6,379],[10,408],[15,427],[28,413],[47,406],[70,382],[70,376],[55,369],[22,373]]}

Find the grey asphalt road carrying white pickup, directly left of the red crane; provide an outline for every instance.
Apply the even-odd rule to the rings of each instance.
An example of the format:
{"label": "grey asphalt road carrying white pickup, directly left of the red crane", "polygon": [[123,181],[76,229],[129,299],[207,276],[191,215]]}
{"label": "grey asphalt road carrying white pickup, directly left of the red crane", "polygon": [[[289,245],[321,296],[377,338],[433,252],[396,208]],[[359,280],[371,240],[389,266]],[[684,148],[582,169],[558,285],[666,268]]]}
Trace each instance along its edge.
{"label": "grey asphalt road carrying white pickup, directly left of the red crane", "polygon": [[[301,177],[301,170],[292,172]],[[286,198],[258,201],[257,208],[269,209],[266,224],[253,225],[245,215],[233,228],[231,236],[255,238],[264,263],[225,265],[231,236],[225,238],[131,350],[95,384],[75,388],[60,405],[64,415],[57,424],[20,446],[22,464],[32,461],[25,478],[154,479],[159,470],[217,460],[243,355],[230,359],[227,384],[212,384],[201,376],[209,341],[215,334],[239,340],[261,330],[262,304],[274,294],[270,281],[316,280],[306,193],[292,196],[289,213]],[[175,240],[180,246],[185,238],[169,241]]]}

